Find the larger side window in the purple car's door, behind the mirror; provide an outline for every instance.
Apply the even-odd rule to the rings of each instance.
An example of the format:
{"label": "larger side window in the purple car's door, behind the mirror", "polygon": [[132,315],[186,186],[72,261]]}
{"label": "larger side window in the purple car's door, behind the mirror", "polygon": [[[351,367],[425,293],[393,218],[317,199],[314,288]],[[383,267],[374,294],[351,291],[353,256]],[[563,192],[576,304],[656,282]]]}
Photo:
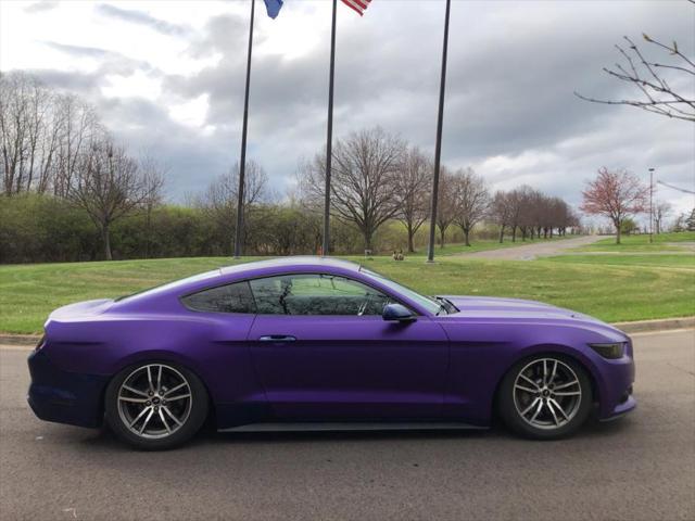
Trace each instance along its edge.
{"label": "larger side window in the purple car's door, behind the mirror", "polygon": [[283,275],[251,281],[263,315],[381,315],[389,296],[333,275]]}

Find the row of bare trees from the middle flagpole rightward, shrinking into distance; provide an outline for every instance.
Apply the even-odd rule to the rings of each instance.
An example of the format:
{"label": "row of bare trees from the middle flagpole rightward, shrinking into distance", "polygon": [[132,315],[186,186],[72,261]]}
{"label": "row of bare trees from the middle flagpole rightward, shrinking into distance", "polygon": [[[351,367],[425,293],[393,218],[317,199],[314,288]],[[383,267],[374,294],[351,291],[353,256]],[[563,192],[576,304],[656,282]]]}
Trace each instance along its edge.
{"label": "row of bare trees from the middle flagpole rightward, shrinking into distance", "polygon": [[[365,250],[389,220],[401,221],[407,232],[407,249],[429,217],[433,161],[397,136],[377,127],[353,132],[333,147],[331,175],[332,214],[362,233]],[[306,207],[318,212],[324,200],[325,165],[319,152],[300,168],[300,195]],[[492,192],[485,179],[472,168],[440,173],[437,227],[440,245],[446,230],[460,228],[466,245],[475,227],[483,221],[498,226],[500,242],[505,232],[516,241],[564,234],[579,226],[579,217],[561,199],[548,196],[529,186]]]}

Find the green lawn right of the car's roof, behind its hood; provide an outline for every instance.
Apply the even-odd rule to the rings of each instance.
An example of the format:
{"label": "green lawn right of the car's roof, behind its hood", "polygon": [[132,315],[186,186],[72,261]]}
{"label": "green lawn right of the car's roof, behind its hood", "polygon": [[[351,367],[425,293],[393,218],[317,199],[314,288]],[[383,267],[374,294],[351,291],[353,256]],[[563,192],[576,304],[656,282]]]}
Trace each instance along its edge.
{"label": "green lawn right of the car's roof, behind its hood", "polygon": [[695,315],[695,270],[564,264],[552,260],[441,259],[434,265],[375,259],[369,267],[428,294],[514,296],[606,321]]}

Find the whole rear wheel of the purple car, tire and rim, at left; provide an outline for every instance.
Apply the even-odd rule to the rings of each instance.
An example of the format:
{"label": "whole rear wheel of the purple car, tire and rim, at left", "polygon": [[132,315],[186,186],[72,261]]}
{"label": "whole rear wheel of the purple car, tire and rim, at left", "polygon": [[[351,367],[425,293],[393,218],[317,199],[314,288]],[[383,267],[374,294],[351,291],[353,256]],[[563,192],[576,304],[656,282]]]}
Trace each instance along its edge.
{"label": "whole rear wheel of the purple car, tire and rim, at left", "polygon": [[207,417],[207,393],[200,379],[182,367],[139,364],[109,384],[105,417],[111,430],[137,448],[173,448],[200,430]]}

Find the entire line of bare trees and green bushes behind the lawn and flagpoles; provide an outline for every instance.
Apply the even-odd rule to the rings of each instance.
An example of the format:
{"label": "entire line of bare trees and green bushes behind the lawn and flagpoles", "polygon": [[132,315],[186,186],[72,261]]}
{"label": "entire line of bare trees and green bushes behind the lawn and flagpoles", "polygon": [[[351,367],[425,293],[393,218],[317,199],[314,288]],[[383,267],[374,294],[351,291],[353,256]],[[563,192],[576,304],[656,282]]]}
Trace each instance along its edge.
{"label": "entire line of bare trees and green bushes behind the lawn and flagpoles", "polygon": [[[30,75],[0,75],[0,262],[80,260],[231,253],[239,168],[186,204],[164,198],[166,166],[117,143],[97,111]],[[432,158],[377,127],[338,139],[331,182],[331,253],[424,243]],[[317,253],[324,157],[300,162],[295,188],[274,193],[249,162],[244,252]],[[579,226],[570,206],[528,186],[493,192],[472,168],[442,167],[440,246],[476,234],[516,241]],[[477,231],[477,233],[476,233]]]}

